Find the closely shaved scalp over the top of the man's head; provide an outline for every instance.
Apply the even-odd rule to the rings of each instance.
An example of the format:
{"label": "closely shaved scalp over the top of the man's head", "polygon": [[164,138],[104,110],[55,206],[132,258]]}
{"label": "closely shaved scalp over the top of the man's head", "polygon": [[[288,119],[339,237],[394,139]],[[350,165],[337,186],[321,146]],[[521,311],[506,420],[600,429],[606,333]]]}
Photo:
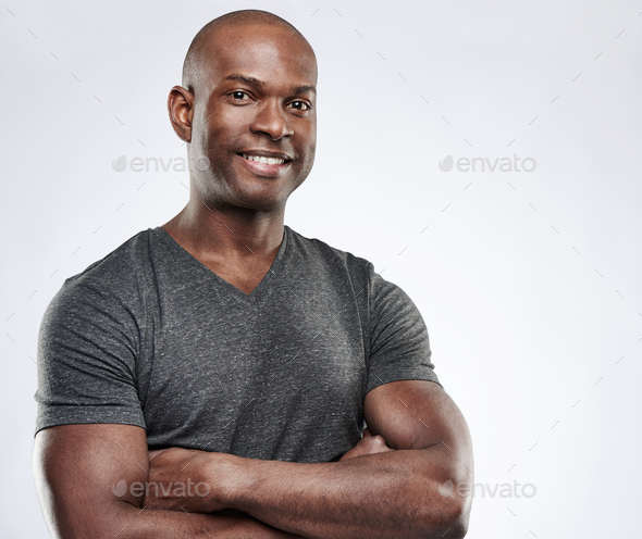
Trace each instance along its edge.
{"label": "closely shaved scalp over the top of the man's head", "polygon": [[[273,13],[261,10],[242,10],[233,11],[221,15],[220,17],[210,21],[206,24],[192,40],[192,45],[185,55],[183,63],[183,80],[184,88],[195,92],[199,86],[202,74],[207,71],[206,64],[208,61],[208,53],[211,51],[212,41],[221,36],[223,28],[251,26],[251,25],[267,25],[281,27],[288,32],[292,39],[303,40],[309,48],[312,55],[312,47],[308,40],[287,21],[281,18]],[[240,28],[239,28],[240,29]]]}

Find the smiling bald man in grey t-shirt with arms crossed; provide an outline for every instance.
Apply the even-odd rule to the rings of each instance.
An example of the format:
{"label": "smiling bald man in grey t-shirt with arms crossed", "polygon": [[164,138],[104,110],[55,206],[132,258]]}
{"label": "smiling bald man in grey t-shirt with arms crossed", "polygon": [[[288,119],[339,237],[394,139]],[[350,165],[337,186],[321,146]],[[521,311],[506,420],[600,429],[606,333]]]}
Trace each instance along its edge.
{"label": "smiling bald man in grey t-shirt with arms crossed", "polygon": [[466,534],[470,438],[421,315],[368,261],[284,225],[316,84],[311,47],[270,13],[193,41],[169,98],[208,163],[187,205],[67,279],[40,328],[55,537]]}

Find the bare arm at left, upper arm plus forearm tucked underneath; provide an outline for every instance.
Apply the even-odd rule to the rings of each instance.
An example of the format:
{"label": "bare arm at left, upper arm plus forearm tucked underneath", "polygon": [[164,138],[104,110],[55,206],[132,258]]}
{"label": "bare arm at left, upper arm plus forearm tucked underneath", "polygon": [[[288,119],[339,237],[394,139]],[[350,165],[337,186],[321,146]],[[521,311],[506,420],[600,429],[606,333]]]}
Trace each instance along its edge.
{"label": "bare arm at left, upper arm plus forearm tucked underneath", "polygon": [[[207,515],[144,509],[147,455],[147,438],[140,427],[92,424],[40,430],[36,436],[34,472],[52,536],[65,539],[297,537],[247,514]],[[136,482],[141,484],[140,488]]]}

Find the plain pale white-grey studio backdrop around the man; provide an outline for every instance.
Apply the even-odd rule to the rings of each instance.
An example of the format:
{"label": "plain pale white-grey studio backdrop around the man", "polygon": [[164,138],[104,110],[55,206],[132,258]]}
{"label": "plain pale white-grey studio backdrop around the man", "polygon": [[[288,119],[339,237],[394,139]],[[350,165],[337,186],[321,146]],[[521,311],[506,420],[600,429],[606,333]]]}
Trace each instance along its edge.
{"label": "plain pale white-grey studio backdrop around the man", "polygon": [[[317,162],[286,224],[419,306],[472,433],[468,537],[637,532],[642,3],[128,0],[0,9],[0,536],[47,536],[30,472],[47,304],[187,201],[186,173],[112,162],[185,158],[169,89],[196,32],[245,8],[317,52]],[[515,154],[536,168],[437,165]]]}

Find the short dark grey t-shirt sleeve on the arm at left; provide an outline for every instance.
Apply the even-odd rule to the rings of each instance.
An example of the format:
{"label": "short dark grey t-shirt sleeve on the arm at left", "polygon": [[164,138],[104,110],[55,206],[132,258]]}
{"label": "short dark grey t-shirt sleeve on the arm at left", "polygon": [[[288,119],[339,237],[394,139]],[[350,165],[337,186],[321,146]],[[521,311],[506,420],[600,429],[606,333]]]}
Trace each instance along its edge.
{"label": "short dark grey t-shirt sleeve on the arm at left", "polygon": [[136,316],[104,288],[67,279],[42,316],[36,433],[87,423],[145,428],[135,381]]}

